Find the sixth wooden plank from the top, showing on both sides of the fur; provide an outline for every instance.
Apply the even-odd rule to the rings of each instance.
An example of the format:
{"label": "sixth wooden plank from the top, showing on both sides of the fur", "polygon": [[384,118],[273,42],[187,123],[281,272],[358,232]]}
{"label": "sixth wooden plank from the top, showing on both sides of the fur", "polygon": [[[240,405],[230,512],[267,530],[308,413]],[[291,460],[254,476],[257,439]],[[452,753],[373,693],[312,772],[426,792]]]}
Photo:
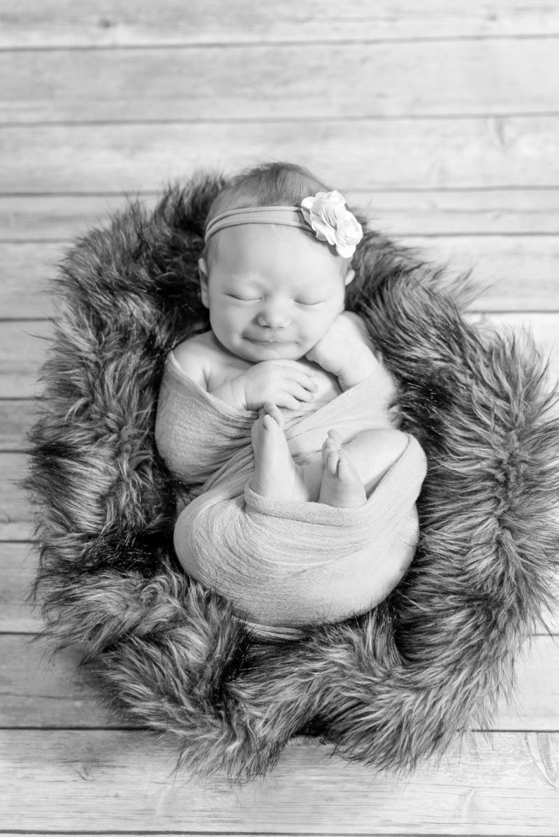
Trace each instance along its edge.
{"label": "sixth wooden plank from the top, showing on both sides of the fur", "polygon": [[[529,328],[543,352],[551,353],[551,374],[559,380],[559,313],[473,313],[472,321],[486,322],[497,329],[519,331]],[[49,333],[46,321],[0,323],[0,398],[31,398],[41,391],[38,368],[44,360]]]}

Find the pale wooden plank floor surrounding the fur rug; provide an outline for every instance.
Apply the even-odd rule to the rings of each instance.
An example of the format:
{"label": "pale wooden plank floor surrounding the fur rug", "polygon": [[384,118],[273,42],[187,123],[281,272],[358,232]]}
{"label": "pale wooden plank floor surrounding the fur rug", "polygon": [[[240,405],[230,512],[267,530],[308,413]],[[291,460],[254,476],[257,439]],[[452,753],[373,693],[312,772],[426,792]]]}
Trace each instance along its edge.
{"label": "pale wooden plank floor surrounding the fur rug", "polygon": [[13,480],[69,240],[195,166],[300,162],[490,290],[472,316],[559,333],[559,4],[0,0],[0,834],[559,834],[559,619],[478,752],[411,779],[295,742],[236,790],[172,777],[30,642]]}

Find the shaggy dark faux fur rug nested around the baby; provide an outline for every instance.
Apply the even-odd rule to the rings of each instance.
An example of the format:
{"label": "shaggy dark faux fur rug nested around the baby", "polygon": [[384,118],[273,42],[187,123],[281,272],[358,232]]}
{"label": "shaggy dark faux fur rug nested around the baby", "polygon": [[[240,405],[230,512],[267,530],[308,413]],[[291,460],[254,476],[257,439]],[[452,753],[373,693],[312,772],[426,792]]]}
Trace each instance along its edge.
{"label": "shaggy dark faux fur rug nested around the baby", "polygon": [[[406,771],[511,696],[521,644],[551,605],[559,554],[557,394],[531,345],[468,325],[471,285],[372,229],[347,307],[400,387],[428,456],[412,567],[369,614],[256,642],[182,575],[177,498],[154,439],[167,352],[208,326],[197,256],[223,180],[200,172],[79,240],[59,270],[27,486],[34,586],[55,647],[79,643],[105,705],[177,733],[179,764],[242,781],[290,739]],[[365,223],[364,218],[362,218]]]}

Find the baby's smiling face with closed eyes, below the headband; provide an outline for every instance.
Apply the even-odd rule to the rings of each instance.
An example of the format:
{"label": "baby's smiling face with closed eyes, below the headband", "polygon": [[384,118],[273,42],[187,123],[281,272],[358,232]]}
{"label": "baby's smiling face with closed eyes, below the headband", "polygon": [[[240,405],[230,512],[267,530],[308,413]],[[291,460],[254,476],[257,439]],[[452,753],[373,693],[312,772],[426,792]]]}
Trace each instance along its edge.
{"label": "baby's smiling face with closed eyes, below the headband", "polygon": [[218,341],[254,363],[299,360],[344,310],[354,271],[300,229],[245,224],[216,236],[217,254],[199,267]]}

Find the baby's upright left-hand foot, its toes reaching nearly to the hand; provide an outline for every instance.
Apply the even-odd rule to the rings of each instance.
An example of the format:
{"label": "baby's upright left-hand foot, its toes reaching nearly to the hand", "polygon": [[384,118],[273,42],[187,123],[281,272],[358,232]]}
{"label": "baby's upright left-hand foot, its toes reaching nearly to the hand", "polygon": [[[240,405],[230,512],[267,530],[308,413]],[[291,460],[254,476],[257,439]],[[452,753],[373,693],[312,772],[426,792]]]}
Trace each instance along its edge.
{"label": "baby's upright left-hand foot, its toes reaching nearly to the hand", "polygon": [[275,404],[264,404],[264,412],[253,424],[251,439],[254,474],[250,488],[276,500],[308,501],[303,470],[290,454],[283,417]]}

